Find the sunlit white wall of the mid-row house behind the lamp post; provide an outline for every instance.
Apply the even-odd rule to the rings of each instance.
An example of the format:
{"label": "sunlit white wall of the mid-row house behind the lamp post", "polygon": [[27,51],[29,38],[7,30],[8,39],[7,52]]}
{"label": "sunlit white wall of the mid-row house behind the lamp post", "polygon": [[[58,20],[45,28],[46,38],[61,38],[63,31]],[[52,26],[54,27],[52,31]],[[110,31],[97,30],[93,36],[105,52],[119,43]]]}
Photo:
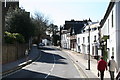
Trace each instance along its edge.
{"label": "sunlit white wall of the mid-row house behind the lamp post", "polygon": [[[98,40],[98,32],[99,32],[98,29],[95,31],[90,31],[90,54],[91,55],[93,53],[92,46],[95,47],[94,36],[96,36],[96,40]],[[77,46],[77,52],[88,54],[88,52],[89,52],[88,51],[88,45],[89,45],[88,36],[89,36],[88,32],[77,34],[77,44],[78,44],[78,46],[80,46],[80,51],[79,51],[78,46]],[[84,43],[83,43],[83,37],[85,38]],[[78,38],[80,39],[80,41],[78,41]],[[95,55],[96,54],[94,54],[93,56],[95,56]]]}

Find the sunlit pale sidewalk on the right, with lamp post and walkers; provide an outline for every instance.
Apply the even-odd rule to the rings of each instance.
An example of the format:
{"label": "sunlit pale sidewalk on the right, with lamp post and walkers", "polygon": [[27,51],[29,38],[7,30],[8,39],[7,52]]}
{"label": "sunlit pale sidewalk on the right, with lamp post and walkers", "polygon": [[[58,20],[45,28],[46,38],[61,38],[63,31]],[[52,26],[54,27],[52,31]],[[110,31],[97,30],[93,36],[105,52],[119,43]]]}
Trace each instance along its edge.
{"label": "sunlit pale sidewalk on the right, with lamp post and walkers", "polygon": [[[83,71],[83,73],[86,75],[86,78],[98,78],[97,60],[91,58],[90,70],[86,70],[88,68],[88,60],[85,59],[83,54],[66,49],[62,49],[62,51],[68,53],[68,56],[81,68],[80,70]],[[110,78],[108,70],[104,72],[104,78]]]}

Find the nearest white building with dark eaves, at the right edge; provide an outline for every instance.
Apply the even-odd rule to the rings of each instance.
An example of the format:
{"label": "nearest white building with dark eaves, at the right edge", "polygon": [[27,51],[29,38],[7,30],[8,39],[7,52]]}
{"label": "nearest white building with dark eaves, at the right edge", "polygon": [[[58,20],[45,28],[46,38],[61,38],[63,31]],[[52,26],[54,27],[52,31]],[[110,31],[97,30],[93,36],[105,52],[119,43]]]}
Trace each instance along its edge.
{"label": "nearest white building with dark eaves, at the right edge", "polygon": [[[107,45],[107,56],[115,57],[120,67],[120,1],[110,2],[101,25],[101,38]],[[107,40],[105,41],[105,37]]]}

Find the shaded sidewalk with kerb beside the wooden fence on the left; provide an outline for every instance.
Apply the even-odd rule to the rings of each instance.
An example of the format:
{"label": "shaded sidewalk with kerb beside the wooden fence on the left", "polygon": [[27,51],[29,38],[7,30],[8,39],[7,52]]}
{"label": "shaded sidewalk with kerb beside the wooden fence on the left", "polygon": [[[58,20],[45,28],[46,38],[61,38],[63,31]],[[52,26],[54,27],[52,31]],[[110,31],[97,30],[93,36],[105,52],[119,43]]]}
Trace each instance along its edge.
{"label": "shaded sidewalk with kerb beside the wooden fence on the left", "polygon": [[21,69],[22,67],[32,63],[39,57],[40,57],[39,50],[37,49],[37,46],[34,45],[32,46],[32,49],[28,55],[28,60],[26,60],[26,58],[24,57],[17,61],[2,65],[2,76],[5,76],[11,72]]}

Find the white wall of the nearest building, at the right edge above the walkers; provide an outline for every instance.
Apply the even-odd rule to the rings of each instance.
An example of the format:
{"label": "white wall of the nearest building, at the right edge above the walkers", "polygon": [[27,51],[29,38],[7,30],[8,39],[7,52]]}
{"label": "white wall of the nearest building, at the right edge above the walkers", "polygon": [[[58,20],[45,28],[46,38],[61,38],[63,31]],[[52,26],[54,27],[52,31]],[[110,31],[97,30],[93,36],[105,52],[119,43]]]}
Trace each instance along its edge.
{"label": "white wall of the nearest building, at the right edge above the walkers", "polygon": [[[113,14],[113,27],[112,27],[112,14]],[[107,48],[109,48],[108,59],[110,59],[110,57],[113,55],[120,67],[120,2],[115,3],[105,24],[101,29],[101,33],[102,36],[103,35],[110,36],[110,38],[107,40],[108,43]]]}

